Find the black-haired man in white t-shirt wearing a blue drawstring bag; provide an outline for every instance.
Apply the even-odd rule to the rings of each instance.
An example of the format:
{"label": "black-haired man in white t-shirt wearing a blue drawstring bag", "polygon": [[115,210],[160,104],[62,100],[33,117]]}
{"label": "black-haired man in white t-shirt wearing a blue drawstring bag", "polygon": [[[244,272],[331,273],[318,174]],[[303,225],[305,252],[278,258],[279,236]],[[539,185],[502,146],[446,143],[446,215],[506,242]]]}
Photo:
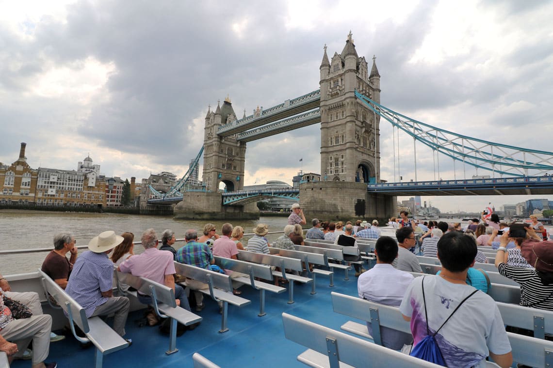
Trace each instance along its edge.
{"label": "black-haired man in white t-shirt wearing a blue drawstring bag", "polygon": [[465,281],[476,250],[476,243],[465,234],[442,236],[438,242],[440,275],[415,278],[399,309],[405,321],[411,322],[413,346],[427,336],[427,328],[439,330],[435,341],[447,366],[484,367],[489,351],[495,364],[507,368],[513,356],[499,309],[491,296]]}

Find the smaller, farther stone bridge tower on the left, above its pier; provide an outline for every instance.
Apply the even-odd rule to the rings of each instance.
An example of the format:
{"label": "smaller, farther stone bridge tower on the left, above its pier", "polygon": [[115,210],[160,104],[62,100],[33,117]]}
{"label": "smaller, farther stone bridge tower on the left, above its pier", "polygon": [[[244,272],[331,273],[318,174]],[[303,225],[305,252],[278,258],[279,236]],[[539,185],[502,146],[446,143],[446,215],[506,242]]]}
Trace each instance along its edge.
{"label": "smaller, farther stone bridge tower on the left, above its pier", "polygon": [[231,100],[227,97],[217,109],[207,110],[204,128],[204,178],[206,190],[216,192],[221,182],[227,191],[244,189],[244,163],[246,142],[238,142],[236,136],[220,137],[217,129],[236,120]]}

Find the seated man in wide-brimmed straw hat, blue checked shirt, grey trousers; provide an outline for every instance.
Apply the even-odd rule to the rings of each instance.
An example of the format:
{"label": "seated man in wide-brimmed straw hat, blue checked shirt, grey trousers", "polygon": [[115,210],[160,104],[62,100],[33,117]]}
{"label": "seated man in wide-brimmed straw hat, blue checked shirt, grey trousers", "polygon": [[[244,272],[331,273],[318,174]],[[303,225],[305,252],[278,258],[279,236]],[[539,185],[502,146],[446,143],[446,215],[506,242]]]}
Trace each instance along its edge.
{"label": "seated man in wide-brimmed straw hat, blue checked shirt, grey trousers", "polygon": [[113,262],[107,257],[121,242],[114,231],[93,237],[77,258],[65,292],[84,308],[86,318],[114,313],[113,329],[124,336],[130,303],[125,296],[113,296]]}

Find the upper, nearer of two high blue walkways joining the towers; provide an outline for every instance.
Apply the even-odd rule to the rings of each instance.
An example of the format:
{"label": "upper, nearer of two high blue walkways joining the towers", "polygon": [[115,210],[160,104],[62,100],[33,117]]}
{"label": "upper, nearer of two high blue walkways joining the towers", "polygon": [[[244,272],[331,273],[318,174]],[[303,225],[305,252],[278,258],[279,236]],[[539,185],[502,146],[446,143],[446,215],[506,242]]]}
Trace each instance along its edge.
{"label": "upper, nearer of two high blue walkways joining the towers", "polygon": [[264,109],[260,111],[259,116],[249,115],[246,116],[246,118],[221,125],[217,130],[217,135],[227,137],[250,129],[255,129],[259,126],[269,124],[270,122],[288,118],[292,115],[305,113],[305,111],[318,108],[320,102],[321,90],[317,89],[300,97],[286,100],[272,108]]}

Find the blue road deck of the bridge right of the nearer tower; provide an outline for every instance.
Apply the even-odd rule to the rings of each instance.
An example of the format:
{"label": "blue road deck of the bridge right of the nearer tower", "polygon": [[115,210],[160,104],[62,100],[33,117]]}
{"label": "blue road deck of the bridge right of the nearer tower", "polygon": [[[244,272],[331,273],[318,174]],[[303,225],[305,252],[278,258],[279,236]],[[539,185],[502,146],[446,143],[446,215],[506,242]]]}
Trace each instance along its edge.
{"label": "blue road deck of the bridge right of the nearer tower", "polygon": [[490,179],[425,180],[368,184],[369,193],[414,195],[550,195],[553,176]]}

